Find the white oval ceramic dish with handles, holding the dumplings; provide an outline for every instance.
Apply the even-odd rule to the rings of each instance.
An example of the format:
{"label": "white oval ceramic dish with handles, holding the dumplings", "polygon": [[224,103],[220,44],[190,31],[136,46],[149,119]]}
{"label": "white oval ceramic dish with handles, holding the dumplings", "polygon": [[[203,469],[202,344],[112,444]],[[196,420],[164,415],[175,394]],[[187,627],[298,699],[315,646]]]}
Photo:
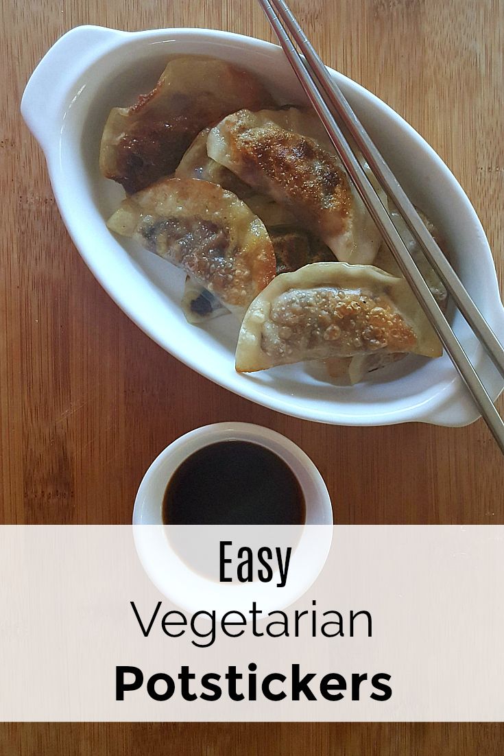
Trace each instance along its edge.
{"label": "white oval ceramic dish with handles, holding the dumplings", "polygon": [[[100,136],[110,108],[149,91],[170,56],[205,54],[251,70],[283,102],[303,102],[297,79],[276,45],[209,29],[119,32],[79,26],[48,51],[26,85],[21,110],[42,146],[63,221],[91,271],[129,317],[185,364],[227,389],[274,410],[342,425],[420,421],[462,426],[478,410],[447,355],[408,357],[357,386],[333,386],[311,364],[252,375],[234,370],[238,325],[230,317],[206,327],[184,319],[184,274],[135,243],[119,240],[105,221],[122,189],[100,176]],[[370,135],[416,205],[438,225],[458,272],[496,331],[504,333],[490,248],[475,210],[441,158],[390,107],[332,72]],[[477,261],[477,264],[475,264]],[[455,314],[452,327],[496,398],[502,379]]]}

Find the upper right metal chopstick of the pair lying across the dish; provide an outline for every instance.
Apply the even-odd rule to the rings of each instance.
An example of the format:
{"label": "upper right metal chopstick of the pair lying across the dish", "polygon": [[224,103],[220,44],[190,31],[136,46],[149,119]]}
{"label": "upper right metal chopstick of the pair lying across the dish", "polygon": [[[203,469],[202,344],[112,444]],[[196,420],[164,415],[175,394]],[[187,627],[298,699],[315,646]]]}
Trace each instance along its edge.
{"label": "upper right metal chopstick of the pair lying across the dish", "polygon": [[502,347],[499,340],[496,338],[495,333],[493,333],[493,330],[487,324],[487,321],[485,321],[483,315],[468,295],[462,281],[453,270],[450,262],[448,262],[438,244],[425,228],[425,225],[416,212],[413,203],[411,203],[409,197],[407,197],[407,194],[397,181],[397,178],[395,178],[391,169],[388,167],[387,163],[385,163],[385,160],[376,145],[369,138],[366,129],[363,128],[363,125],[351,109],[345,95],[343,95],[341,89],[333,81],[332,77],[329,76],[326,66],[323,64],[308,37],[301,29],[301,26],[295,19],[292,11],[290,11],[284,0],[271,0],[271,5],[273,5],[274,8],[277,8],[286,29],[292,34],[296,44],[305,55],[308,65],[311,67],[311,70],[313,70],[318,82],[325,91],[330,104],[345,123],[348,132],[351,134],[352,138],[354,138],[357,147],[363,154],[367,163],[369,163],[369,167],[378,179],[379,184],[382,185],[385,192],[391,197],[391,200],[394,201],[400,215],[402,215],[404,221],[409,226],[410,231],[413,233],[413,236],[416,237],[416,240],[422,247],[428,262],[430,262],[434,270],[437,271],[439,277],[447,287],[447,290],[450,292],[451,296],[453,296],[462,315],[479,337],[482,345],[501,375],[504,376],[504,347]]}

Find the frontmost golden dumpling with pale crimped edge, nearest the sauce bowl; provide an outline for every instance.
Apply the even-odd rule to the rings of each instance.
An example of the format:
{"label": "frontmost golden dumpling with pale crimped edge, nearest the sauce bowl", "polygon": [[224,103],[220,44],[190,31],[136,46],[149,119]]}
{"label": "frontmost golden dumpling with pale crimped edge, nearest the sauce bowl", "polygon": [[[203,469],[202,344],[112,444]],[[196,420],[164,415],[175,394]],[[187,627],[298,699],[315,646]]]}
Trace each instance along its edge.
{"label": "frontmost golden dumpling with pale crimped edge, nearest the sauce bowl", "polygon": [[442,353],[406,280],[371,265],[316,262],[277,276],[252,302],[236,367],[249,373],[381,351]]}

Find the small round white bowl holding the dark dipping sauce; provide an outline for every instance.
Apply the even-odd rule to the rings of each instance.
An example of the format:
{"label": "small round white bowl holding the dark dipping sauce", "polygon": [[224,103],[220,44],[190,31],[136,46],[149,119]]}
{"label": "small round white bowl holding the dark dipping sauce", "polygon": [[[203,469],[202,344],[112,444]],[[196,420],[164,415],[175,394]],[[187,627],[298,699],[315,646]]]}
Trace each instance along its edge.
{"label": "small round white bowl holding the dark dipping sauce", "polygon": [[[176,469],[191,454],[224,441],[252,442],[274,452],[292,469],[305,497],[305,525],[163,525],[162,500]],[[258,476],[261,470],[258,470]],[[332,505],[317,467],[289,438],[249,423],[216,423],[181,436],[156,457],[138,488],[133,510],[133,533],[138,556],[150,580],[177,606],[190,612],[231,609],[248,612],[259,602],[264,612],[295,601],[313,584],[323,569],[332,540]],[[288,580],[282,588],[271,583],[221,584],[204,572],[204,562],[218,555],[219,541],[252,544],[292,544]],[[179,544],[179,545],[177,545]],[[201,548],[199,572],[181,551]]]}

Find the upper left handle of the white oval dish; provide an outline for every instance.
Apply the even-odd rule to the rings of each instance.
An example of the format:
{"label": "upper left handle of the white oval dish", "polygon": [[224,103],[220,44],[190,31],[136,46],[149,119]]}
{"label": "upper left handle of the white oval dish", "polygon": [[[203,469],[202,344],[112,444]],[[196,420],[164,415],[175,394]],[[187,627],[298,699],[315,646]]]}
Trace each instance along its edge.
{"label": "upper left handle of the white oval dish", "polygon": [[61,125],[64,94],[76,77],[108,50],[114,40],[128,35],[105,26],[76,26],[46,52],[30,76],[21,100],[21,115],[30,132],[45,149],[54,129]]}

